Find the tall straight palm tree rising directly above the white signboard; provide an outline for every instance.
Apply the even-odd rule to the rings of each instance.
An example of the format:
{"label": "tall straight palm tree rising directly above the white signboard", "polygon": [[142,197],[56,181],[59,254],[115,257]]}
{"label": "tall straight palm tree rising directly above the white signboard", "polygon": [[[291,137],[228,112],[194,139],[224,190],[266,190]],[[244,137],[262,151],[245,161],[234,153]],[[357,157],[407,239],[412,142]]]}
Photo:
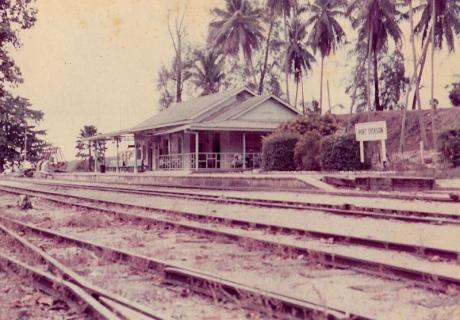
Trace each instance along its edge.
{"label": "tall straight palm tree rising directly above the white signboard", "polygon": [[[375,110],[382,111],[379,100],[378,56],[388,49],[391,38],[397,48],[401,47],[402,31],[398,25],[398,11],[393,0],[353,0],[348,13],[351,16],[353,28],[358,30],[358,42],[365,44],[368,49],[368,87],[370,87],[370,63],[372,59],[374,70],[374,103]],[[368,95],[369,95],[368,90]],[[370,98],[368,98],[370,110]]]}

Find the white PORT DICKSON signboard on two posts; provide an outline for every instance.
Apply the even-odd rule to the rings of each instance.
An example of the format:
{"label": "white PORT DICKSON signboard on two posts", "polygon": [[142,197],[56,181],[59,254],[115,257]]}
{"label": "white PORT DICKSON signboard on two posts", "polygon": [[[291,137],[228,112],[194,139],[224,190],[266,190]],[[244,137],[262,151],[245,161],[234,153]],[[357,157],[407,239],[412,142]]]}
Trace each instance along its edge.
{"label": "white PORT DICKSON signboard on two posts", "polygon": [[386,121],[363,122],[355,124],[356,141],[359,141],[359,155],[361,163],[364,163],[364,141],[380,141],[382,162],[387,160],[386,142],[387,123]]}

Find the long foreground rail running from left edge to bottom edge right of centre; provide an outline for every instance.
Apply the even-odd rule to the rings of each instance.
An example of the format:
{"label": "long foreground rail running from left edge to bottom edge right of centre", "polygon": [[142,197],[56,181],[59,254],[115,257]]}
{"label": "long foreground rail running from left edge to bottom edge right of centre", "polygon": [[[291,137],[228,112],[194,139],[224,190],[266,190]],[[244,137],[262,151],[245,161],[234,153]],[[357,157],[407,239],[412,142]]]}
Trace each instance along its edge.
{"label": "long foreground rail running from left edge to bottom edge right of centre", "polygon": [[[370,320],[370,318],[366,316],[350,314],[346,311],[341,311],[336,308],[322,306],[304,300],[298,300],[274,292],[268,292],[256,287],[240,284],[232,280],[218,278],[213,275],[203,273],[199,270],[183,267],[158,258],[150,258],[144,255],[134,254],[123,249],[113,248],[88,240],[78,239],[56,231],[35,227],[33,225],[3,216],[0,216],[0,220],[15,225],[15,227],[20,230],[28,230],[35,234],[73,243],[82,248],[92,250],[96,253],[108,253],[127,263],[133,263],[135,265],[142,263],[142,265],[146,266],[148,270],[154,270],[156,273],[162,273],[166,281],[182,285],[202,295],[206,294],[206,288],[218,288],[221,291],[221,298],[228,298],[230,295],[238,299],[239,297],[244,296],[245,298],[252,299],[251,303],[257,305],[260,304],[261,301],[272,301],[274,305],[282,306],[284,311],[292,313],[296,318],[299,319],[311,319],[312,315],[321,314],[325,317],[325,319]],[[210,295],[209,292],[206,295]],[[264,304],[261,306],[267,307],[267,305]]]}

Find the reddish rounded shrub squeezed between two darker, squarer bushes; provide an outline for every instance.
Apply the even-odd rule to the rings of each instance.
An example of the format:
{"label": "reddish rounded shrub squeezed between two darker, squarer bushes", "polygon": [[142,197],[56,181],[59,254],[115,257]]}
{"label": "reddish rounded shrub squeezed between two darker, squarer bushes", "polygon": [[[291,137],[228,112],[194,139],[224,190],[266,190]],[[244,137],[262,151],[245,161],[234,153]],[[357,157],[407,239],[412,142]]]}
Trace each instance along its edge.
{"label": "reddish rounded shrub squeezed between two darker, squarer bushes", "polygon": [[297,142],[294,149],[294,160],[298,170],[320,170],[319,154],[321,135],[318,131],[305,133]]}

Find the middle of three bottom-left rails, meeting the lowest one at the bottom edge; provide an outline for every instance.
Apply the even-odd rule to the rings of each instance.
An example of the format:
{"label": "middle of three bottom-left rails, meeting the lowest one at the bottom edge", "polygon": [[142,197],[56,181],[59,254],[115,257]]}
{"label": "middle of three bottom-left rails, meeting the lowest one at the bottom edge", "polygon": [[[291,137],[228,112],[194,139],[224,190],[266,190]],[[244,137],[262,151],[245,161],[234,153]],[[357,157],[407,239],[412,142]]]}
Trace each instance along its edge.
{"label": "middle of three bottom-left rails, meeting the lowest one at the bottom edge", "polygon": [[[108,292],[105,289],[99,288],[97,286],[92,285],[86,279],[78,275],[76,272],[71,270],[70,268],[66,267],[62,263],[60,263],[58,260],[50,256],[48,253],[43,251],[42,249],[36,247],[26,239],[22,238],[12,230],[9,230],[7,227],[4,225],[0,224],[0,230],[9,236],[10,238],[14,239],[16,242],[21,244],[24,248],[26,248],[28,251],[32,252],[34,255],[40,257],[48,266],[52,267],[55,269],[59,274],[63,275],[63,280],[66,282],[73,283],[75,286],[80,287],[82,290],[80,292],[86,292],[86,296],[82,296],[82,299],[85,300],[89,304],[89,306],[97,311],[101,316],[103,316],[107,320],[111,319],[119,319],[114,313],[112,313],[110,310],[108,310],[105,306],[104,303],[101,303],[98,298],[99,297],[104,297],[106,299],[112,300],[112,302],[116,304],[120,304],[132,311],[134,311],[137,314],[142,314],[143,316],[149,317],[149,319],[155,319],[155,320],[162,320],[162,319],[169,319],[166,316],[162,315],[159,316],[158,313],[155,313],[151,310],[149,310],[147,307],[140,305],[139,303],[129,301],[128,299],[121,297],[117,294],[113,294],[111,292]],[[90,299],[91,297],[92,299]],[[95,298],[97,297],[97,298]],[[119,312],[117,312],[119,313]],[[123,315],[123,318],[125,319],[132,319],[136,320],[137,316],[128,316],[127,314]]]}

